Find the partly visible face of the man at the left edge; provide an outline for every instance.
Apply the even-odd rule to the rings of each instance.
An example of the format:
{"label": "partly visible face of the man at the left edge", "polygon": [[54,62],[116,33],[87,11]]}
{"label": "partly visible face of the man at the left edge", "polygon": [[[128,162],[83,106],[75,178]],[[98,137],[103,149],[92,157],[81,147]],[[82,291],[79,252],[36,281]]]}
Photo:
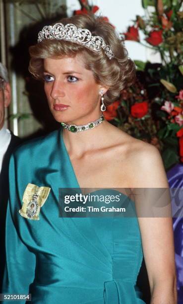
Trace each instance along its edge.
{"label": "partly visible face of the man at the left edge", "polygon": [[10,103],[10,91],[9,83],[4,83],[3,87],[0,88],[0,129],[2,129],[4,124],[5,108],[7,108]]}

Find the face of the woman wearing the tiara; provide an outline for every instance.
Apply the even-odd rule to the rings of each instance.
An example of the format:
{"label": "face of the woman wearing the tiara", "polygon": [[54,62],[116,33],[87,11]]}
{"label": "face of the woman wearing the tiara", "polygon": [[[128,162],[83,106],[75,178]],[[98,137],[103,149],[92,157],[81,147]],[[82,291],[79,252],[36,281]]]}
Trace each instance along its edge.
{"label": "face of the woman wearing the tiara", "polygon": [[44,80],[49,107],[58,122],[81,125],[99,118],[99,90],[107,89],[96,83],[78,55],[45,59]]}

